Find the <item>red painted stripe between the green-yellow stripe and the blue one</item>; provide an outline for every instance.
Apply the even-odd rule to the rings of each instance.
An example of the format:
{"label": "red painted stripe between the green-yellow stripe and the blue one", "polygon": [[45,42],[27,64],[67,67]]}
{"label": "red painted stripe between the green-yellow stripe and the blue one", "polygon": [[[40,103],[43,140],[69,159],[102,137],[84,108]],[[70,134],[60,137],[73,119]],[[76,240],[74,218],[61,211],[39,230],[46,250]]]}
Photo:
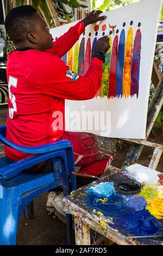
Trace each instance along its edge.
{"label": "red painted stripe between the green-yellow stripe and the blue one", "polygon": [[109,72],[109,99],[115,97],[116,89],[116,68],[117,68],[117,54],[118,54],[118,35],[115,36],[112,44],[110,72]]}

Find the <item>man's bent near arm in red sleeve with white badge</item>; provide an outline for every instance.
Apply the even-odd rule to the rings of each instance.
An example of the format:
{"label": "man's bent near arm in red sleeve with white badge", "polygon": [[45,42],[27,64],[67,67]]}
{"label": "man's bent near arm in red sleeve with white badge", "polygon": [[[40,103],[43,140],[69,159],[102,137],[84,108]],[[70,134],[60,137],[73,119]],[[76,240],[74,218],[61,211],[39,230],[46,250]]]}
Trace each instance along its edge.
{"label": "man's bent near arm in red sleeve with white badge", "polygon": [[101,84],[102,64],[102,60],[94,57],[86,74],[78,76],[62,60],[52,56],[43,74],[42,93],[68,100],[92,99]]}

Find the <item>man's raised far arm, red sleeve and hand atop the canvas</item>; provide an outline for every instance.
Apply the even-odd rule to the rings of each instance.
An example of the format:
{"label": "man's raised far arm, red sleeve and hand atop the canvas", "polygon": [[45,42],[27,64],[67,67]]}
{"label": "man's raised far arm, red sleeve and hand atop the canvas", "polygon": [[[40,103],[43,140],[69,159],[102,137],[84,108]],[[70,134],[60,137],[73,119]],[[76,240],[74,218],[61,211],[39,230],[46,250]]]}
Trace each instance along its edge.
{"label": "man's raised far arm, red sleeve and hand atop the canvas", "polygon": [[106,19],[106,16],[100,16],[102,11],[93,10],[91,13],[85,17],[82,21],[79,21],[75,26],[68,29],[68,31],[61,35],[55,42],[53,42],[53,47],[51,49],[46,50],[46,52],[50,52],[59,58],[65,55],[72,46],[78,41],[79,36],[85,31],[85,27],[87,25],[93,24],[97,21],[101,21]]}

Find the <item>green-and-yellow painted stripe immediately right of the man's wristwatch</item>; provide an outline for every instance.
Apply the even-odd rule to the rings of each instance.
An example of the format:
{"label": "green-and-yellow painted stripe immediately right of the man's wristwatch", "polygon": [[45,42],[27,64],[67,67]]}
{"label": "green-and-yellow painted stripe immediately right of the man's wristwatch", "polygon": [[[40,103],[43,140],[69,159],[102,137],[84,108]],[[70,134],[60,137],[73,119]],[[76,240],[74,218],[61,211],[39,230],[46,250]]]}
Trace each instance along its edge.
{"label": "green-and-yellow painted stripe immediately right of the man's wristwatch", "polygon": [[110,71],[110,56],[111,56],[111,36],[110,39],[110,48],[108,52],[106,52],[105,56],[105,63],[103,64],[103,76],[101,82],[101,96],[108,97],[108,90],[109,90],[109,71]]}

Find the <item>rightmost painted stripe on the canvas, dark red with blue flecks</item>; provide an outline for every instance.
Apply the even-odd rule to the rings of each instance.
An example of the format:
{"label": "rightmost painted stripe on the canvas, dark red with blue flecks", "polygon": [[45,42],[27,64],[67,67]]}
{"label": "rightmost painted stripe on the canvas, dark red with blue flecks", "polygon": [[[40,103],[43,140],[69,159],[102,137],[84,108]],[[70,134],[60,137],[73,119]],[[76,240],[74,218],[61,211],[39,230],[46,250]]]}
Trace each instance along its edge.
{"label": "rightmost painted stripe on the canvas, dark red with blue flecks", "polygon": [[137,29],[134,47],[133,47],[133,59],[131,67],[131,92],[130,95],[139,96],[139,75],[140,75],[140,58],[141,58],[141,31]]}

